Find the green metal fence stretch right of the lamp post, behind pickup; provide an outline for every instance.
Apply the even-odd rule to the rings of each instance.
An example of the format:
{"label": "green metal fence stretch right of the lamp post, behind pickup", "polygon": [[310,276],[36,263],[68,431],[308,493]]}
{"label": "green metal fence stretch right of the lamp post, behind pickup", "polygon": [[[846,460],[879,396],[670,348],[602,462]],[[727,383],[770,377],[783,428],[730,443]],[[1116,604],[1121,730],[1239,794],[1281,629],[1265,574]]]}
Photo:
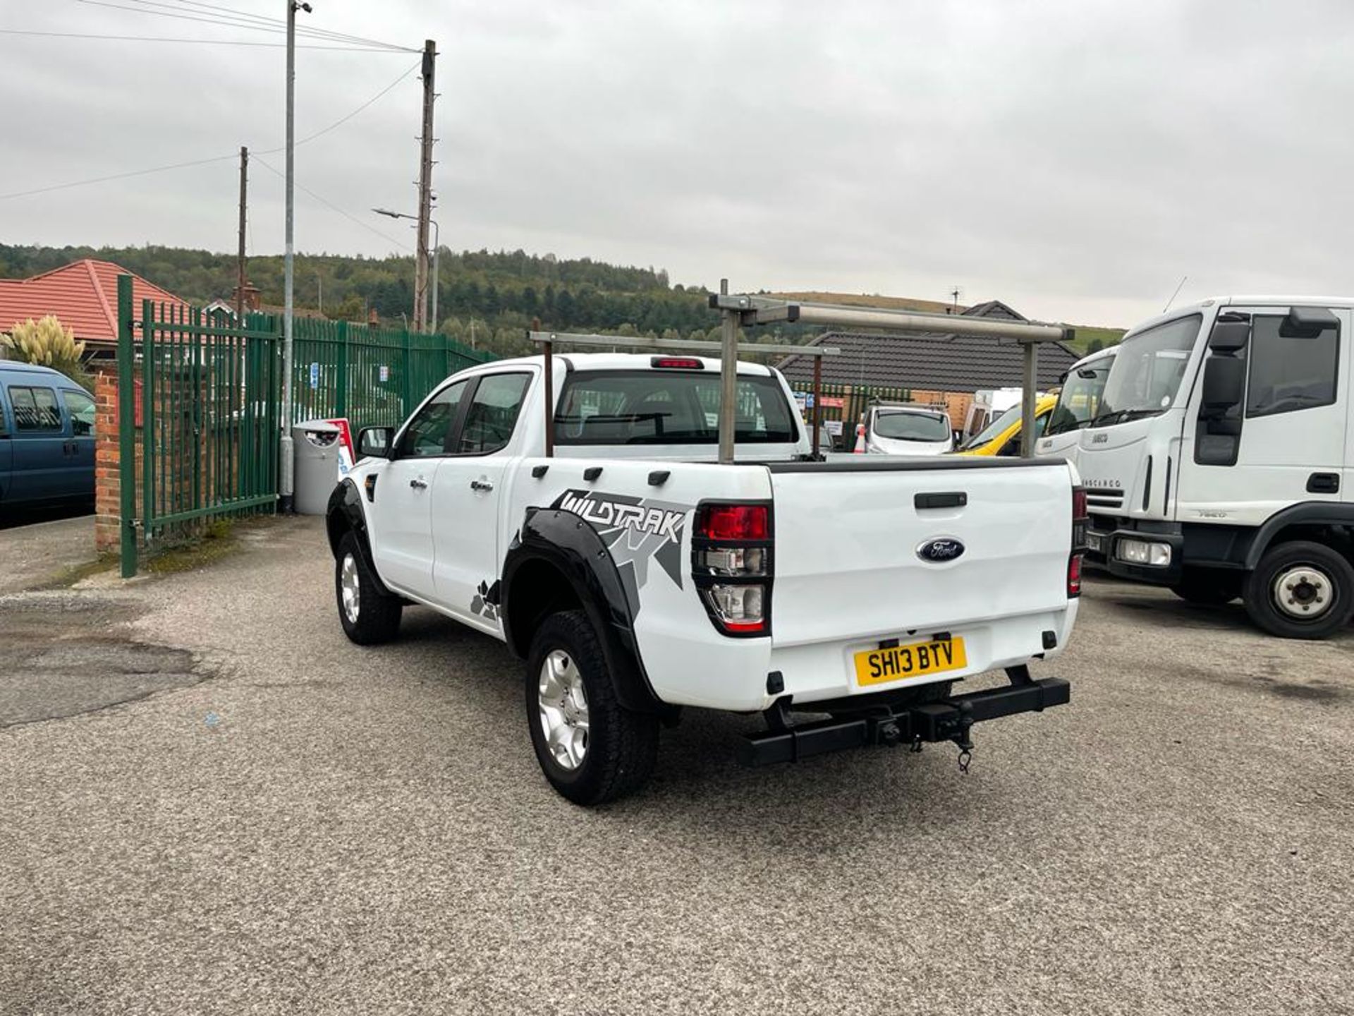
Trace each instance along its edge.
{"label": "green metal fence stretch right of the lamp post, behind pickup", "polygon": [[291,340],[292,423],[395,427],[439,381],[493,359],[441,335],[348,321],[297,318]]}

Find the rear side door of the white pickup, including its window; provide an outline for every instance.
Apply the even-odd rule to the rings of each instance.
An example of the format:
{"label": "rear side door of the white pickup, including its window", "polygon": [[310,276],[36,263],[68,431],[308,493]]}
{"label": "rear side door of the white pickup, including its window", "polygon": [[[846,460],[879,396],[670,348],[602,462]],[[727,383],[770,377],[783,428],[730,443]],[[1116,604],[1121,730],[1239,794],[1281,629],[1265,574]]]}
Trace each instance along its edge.
{"label": "rear side door of the white pickup, including its window", "polygon": [[[498,581],[504,547],[500,513],[528,371],[482,374],[437,465],[433,485],[433,587],[436,603],[473,627],[498,634],[498,611],[485,593]],[[519,435],[520,436],[520,435]]]}

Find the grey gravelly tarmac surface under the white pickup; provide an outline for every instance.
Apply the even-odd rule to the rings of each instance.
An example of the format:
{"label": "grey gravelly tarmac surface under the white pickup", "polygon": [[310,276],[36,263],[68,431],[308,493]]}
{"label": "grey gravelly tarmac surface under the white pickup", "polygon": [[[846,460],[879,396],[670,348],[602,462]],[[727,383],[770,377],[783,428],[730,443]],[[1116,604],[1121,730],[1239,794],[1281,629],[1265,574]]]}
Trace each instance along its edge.
{"label": "grey gravelly tarmac surface under the white pickup", "polygon": [[125,593],[198,683],[0,730],[0,1011],[1354,1012],[1354,635],[1091,580],[967,776],[693,711],[588,811],[497,642],[359,649],[318,520],[241,542]]}

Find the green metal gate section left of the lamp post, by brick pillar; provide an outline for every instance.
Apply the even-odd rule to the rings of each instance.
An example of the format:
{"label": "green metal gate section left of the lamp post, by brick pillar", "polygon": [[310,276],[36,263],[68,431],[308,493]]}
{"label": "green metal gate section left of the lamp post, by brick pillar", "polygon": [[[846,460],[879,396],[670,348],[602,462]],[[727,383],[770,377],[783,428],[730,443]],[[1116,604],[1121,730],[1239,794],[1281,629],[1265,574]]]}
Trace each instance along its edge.
{"label": "green metal gate section left of the lamp post, by brick pillar", "polygon": [[238,326],[146,299],[138,317],[130,276],[118,279],[123,576],[137,572],[138,528],[153,546],[213,516],[274,511],[279,345],[267,314]]}

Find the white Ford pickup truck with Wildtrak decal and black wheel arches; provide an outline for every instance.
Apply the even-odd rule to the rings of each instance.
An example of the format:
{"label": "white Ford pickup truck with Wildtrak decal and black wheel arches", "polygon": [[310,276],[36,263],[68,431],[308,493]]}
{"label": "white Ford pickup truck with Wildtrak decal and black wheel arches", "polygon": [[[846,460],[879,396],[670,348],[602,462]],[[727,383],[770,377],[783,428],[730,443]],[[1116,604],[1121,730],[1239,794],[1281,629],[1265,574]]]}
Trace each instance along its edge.
{"label": "white Ford pickup truck with Wildtrak decal and black wheel arches", "polygon": [[[640,786],[685,706],[764,713],[739,752],[764,764],[968,750],[972,723],[1068,700],[1026,666],[1076,618],[1085,497],[1067,463],[816,461],[780,373],[738,363],[737,461],[720,465],[718,360],[550,366],[548,393],[544,358],[498,360],[395,433],[364,429],[328,531],[353,642],[393,638],[416,603],[527,660],[531,741],[565,797]],[[951,694],[991,669],[1009,683]]]}

